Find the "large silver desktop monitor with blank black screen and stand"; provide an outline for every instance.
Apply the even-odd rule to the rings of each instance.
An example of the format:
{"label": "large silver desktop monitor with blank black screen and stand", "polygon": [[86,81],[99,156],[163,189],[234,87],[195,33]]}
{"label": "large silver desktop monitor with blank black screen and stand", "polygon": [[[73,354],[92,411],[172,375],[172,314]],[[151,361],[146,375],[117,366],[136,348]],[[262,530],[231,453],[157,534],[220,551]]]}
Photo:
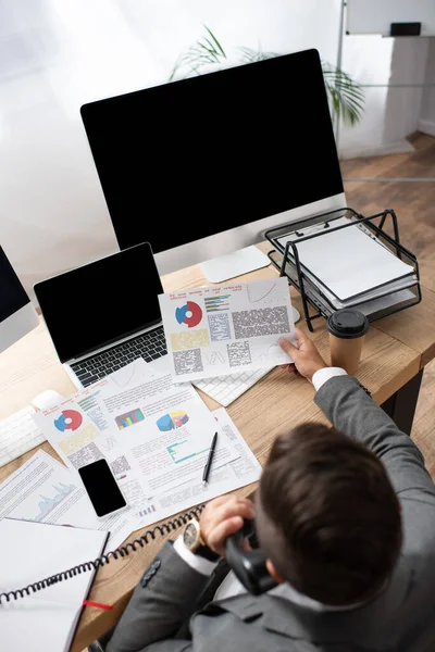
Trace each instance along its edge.
{"label": "large silver desktop monitor with blank black screen and stand", "polygon": [[149,241],[160,274],[200,263],[212,283],[232,278],[270,262],[252,247],[266,229],[346,205],[318,50],[97,100],[80,115],[119,246]]}

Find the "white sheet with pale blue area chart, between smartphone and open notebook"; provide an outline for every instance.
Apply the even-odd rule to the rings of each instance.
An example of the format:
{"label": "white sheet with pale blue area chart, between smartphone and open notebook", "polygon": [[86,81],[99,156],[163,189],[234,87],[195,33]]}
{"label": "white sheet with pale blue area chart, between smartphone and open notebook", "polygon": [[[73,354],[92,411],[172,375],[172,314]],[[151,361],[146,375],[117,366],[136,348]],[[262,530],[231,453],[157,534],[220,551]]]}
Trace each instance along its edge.
{"label": "white sheet with pale blue area chart, between smartphone and open notebook", "polygon": [[130,512],[98,518],[78,474],[42,450],[35,453],[0,485],[0,518],[71,525],[109,531],[117,548],[139,524]]}

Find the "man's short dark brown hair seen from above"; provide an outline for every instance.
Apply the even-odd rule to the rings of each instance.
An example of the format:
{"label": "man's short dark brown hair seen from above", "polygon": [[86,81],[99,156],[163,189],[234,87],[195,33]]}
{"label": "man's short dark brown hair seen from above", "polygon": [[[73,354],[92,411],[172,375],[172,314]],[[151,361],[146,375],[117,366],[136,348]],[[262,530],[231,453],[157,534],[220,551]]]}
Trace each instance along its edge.
{"label": "man's short dark brown hair seen from above", "polygon": [[390,577],[400,506],[382,462],[358,441],[316,423],[278,437],[258,498],[260,546],[299,592],[347,605]]}

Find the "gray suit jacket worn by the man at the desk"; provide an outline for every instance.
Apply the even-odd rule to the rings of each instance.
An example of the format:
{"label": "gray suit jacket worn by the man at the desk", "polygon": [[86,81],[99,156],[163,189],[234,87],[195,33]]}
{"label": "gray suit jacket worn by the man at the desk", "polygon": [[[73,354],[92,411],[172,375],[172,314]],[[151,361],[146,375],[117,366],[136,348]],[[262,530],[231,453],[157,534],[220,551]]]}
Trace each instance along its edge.
{"label": "gray suit jacket worn by the man at the desk", "polygon": [[[315,403],[362,441],[400,498],[405,539],[387,589],[348,612],[314,612],[285,599],[238,595],[198,611],[207,578],[166,542],[137,585],[107,652],[421,652],[435,627],[435,488],[423,456],[353,377],[331,378]],[[432,624],[434,620],[434,624]]]}

